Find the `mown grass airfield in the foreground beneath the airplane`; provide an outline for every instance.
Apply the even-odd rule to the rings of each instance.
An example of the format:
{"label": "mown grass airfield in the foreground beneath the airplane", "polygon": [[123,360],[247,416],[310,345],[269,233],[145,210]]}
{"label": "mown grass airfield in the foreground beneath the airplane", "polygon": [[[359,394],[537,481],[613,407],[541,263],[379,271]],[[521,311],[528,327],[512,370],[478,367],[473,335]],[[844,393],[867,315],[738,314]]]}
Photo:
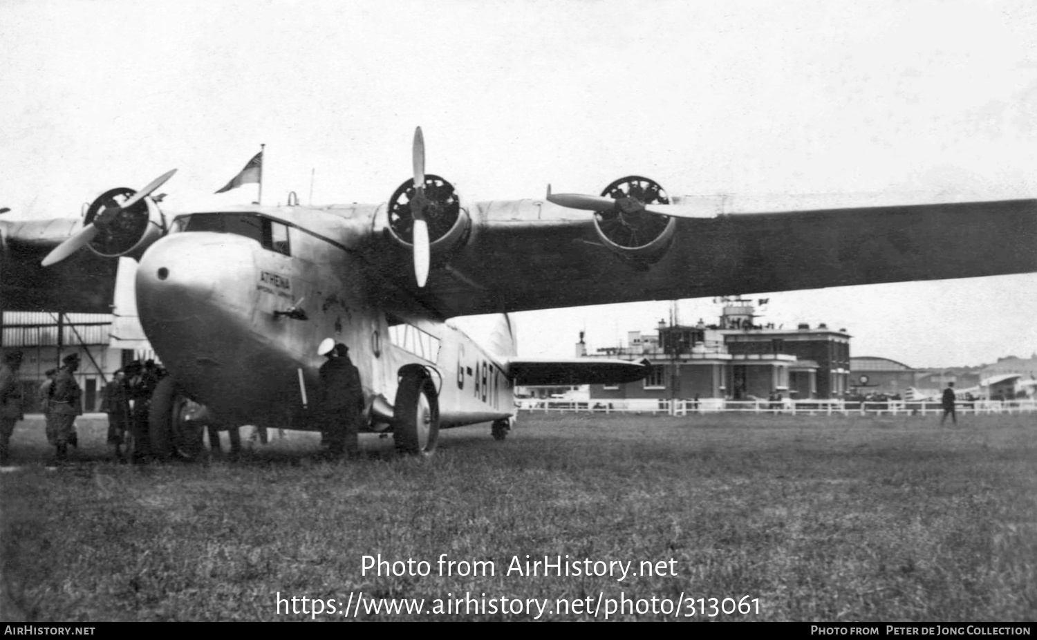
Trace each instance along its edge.
{"label": "mown grass airfield in the foreground beneath the airplane", "polygon": [[[524,415],[503,443],[488,425],[445,432],[429,460],[365,437],[365,460],[328,464],[312,435],[291,434],[236,463],[132,467],[106,460],[103,422],[81,419],[77,461],[48,470],[30,418],[12,443],[28,462],[0,474],[0,617],[604,619],[612,602],[610,619],[1033,620],[1037,416],[937,424]],[[429,575],[363,575],[377,554]],[[441,576],[442,554],[495,575]],[[527,554],[638,575],[507,575]],[[466,593],[476,604],[460,613],[442,601],[428,613]],[[291,596],[337,613],[285,614]],[[379,597],[424,610],[366,612]],[[710,616],[710,597],[751,612]]]}

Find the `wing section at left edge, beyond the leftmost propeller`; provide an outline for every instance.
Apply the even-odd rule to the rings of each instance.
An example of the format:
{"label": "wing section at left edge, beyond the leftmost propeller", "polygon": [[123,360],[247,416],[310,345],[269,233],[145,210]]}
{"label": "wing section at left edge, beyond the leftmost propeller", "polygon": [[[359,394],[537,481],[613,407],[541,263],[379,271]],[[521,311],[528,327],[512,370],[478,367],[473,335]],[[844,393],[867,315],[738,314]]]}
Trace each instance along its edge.
{"label": "wing section at left edge, beyond the leftmost propeller", "polygon": [[80,228],[73,219],[0,220],[0,307],[5,311],[111,313],[117,260],[79,251],[40,261]]}

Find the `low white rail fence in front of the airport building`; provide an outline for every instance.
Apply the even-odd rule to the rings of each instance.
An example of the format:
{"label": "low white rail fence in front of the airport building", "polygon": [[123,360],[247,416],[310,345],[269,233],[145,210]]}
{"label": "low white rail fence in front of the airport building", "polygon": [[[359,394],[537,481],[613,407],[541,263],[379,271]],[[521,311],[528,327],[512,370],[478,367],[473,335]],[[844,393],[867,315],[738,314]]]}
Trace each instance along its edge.
{"label": "low white rail fence in front of the airport building", "polygon": [[[685,416],[706,413],[781,414],[791,416],[926,416],[944,413],[936,402],[889,400],[885,402],[849,402],[845,400],[724,400],[705,398],[626,399],[626,400],[535,400],[518,399],[518,409],[543,413],[637,413]],[[1037,412],[1037,398],[1019,400],[959,400],[960,414],[1017,414]]]}

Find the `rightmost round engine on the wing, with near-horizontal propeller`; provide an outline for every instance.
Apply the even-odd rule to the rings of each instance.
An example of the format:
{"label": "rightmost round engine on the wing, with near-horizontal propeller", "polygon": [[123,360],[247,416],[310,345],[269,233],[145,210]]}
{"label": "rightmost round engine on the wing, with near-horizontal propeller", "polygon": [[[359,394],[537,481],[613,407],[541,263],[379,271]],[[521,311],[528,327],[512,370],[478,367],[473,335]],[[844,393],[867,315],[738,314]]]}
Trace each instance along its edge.
{"label": "rightmost round engine on the wing, with near-horizontal propeller", "polygon": [[[602,196],[633,198],[644,204],[669,204],[670,198],[655,180],[640,175],[621,177],[601,191]],[[657,262],[673,243],[677,220],[645,211],[627,212],[622,206],[594,212],[594,229],[610,250],[625,261],[647,268]]]}

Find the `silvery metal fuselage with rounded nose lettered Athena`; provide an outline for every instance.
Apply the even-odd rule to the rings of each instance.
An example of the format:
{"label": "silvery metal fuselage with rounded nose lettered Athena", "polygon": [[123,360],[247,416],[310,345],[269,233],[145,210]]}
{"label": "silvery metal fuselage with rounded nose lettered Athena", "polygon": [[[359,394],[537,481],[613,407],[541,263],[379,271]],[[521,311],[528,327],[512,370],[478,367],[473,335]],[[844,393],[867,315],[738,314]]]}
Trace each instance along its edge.
{"label": "silvery metal fuselage with rounded nose lettered Athena", "polygon": [[[328,337],[349,347],[368,407],[377,396],[392,405],[400,368],[420,364],[439,390],[442,426],[513,414],[500,364],[463,332],[372,302],[385,299],[383,285],[356,250],[370,238],[366,208],[264,211],[290,225],[290,255],[244,235],[185,231],[141,258],[141,325],[163,364],[218,420],[317,428],[325,359],[316,347]],[[306,319],[276,313],[292,305]]]}

